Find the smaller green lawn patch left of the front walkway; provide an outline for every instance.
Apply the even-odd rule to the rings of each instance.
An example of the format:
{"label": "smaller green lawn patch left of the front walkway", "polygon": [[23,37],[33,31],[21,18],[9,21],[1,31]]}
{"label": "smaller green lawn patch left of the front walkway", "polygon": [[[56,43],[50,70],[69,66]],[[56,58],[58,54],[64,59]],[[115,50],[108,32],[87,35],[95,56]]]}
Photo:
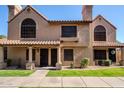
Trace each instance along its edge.
{"label": "smaller green lawn patch left of the front walkway", "polygon": [[0,70],[0,77],[7,76],[29,76],[34,71],[32,70]]}

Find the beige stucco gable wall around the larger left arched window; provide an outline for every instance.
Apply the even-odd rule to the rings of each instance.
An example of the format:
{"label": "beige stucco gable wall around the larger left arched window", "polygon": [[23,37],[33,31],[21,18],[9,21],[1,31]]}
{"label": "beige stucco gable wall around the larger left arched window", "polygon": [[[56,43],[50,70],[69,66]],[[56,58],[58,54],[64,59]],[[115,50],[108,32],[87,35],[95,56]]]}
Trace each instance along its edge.
{"label": "beige stucco gable wall around the larger left arched window", "polygon": [[[41,18],[41,16],[39,16],[33,10],[30,13],[28,13],[27,11],[22,12],[13,21],[9,23],[8,39],[15,39],[15,40],[22,39],[20,38],[21,23],[26,18],[31,18],[36,22],[36,38],[34,38],[33,40],[58,39],[58,36],[59,36],[59,34],[57,34],[58,31],[54,30],[52,26],[49,26],[48,22],[43,18]],[[52,33],[51,32],[52,30],[50,30],[49,28],[53,29],[53,31],[56,34]],[[55,28],[57,29],[56,26]]]}

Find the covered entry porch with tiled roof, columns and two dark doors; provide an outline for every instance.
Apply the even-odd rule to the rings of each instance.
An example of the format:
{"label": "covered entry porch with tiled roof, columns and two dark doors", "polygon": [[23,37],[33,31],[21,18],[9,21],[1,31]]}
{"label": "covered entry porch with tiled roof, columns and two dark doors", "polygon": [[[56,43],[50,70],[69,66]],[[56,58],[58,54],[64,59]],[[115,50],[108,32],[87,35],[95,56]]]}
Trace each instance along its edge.
{"label": "covered entry porch with tiled roof, columns and two dark doors", "polygon": [[[59,41],[19,41],[7,40],[0,47],[0,63],[12,60],[12,65],[26,69],[53,66],[61,69],[61,48]],[[3,66],[1,65],[1,68]]]}

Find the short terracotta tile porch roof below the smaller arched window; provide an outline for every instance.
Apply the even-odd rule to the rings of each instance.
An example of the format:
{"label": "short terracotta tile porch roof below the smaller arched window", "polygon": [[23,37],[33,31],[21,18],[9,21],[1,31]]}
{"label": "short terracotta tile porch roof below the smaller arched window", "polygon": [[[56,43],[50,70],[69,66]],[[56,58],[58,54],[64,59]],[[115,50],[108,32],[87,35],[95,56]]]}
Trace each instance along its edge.
{"label": "short terracotta tile porch roof below the smaller arched window", "polygon": [[93,42],[94,47],[124,47],[124,43],[118,42],[104,42],[104,41],[96,41]]}

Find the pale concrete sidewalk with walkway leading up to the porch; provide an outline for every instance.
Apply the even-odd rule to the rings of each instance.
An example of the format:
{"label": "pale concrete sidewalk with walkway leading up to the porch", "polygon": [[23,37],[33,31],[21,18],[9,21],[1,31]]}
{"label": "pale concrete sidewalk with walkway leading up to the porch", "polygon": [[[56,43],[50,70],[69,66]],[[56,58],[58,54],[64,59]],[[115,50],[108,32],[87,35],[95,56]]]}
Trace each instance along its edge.
{"label": "pale concrete sidewalk with walkway leading up to the porch", "polygon": [[45,77],[47,72],[37,70],[29,77],[0,77],[0,87],[124,87],[124,77]]}

